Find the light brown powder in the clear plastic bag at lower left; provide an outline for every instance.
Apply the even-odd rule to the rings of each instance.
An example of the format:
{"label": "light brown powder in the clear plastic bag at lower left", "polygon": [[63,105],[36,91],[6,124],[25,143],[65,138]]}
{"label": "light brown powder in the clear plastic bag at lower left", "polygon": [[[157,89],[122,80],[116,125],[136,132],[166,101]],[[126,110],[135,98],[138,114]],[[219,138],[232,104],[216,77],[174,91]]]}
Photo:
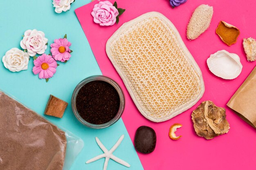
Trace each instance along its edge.
{"label": "light brown powder in the clear plastic bag at lower left", "polygon": [[0,169],[62,170],[65,132],[0,92]]}

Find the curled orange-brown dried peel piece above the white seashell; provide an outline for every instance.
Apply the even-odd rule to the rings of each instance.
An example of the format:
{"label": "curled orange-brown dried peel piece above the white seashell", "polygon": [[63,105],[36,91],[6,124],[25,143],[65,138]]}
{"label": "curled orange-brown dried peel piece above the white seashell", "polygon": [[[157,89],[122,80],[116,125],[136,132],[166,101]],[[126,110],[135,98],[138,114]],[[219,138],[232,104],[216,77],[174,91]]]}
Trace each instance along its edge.
{"label": "curled orange-brown dried peel piece above the white seashell", "polygon": [[216,33],[220,36],[220,39],[225,42],[228,46],[235,44],[240,31],[236,26],[228,24],[227,22],[220,21]]}

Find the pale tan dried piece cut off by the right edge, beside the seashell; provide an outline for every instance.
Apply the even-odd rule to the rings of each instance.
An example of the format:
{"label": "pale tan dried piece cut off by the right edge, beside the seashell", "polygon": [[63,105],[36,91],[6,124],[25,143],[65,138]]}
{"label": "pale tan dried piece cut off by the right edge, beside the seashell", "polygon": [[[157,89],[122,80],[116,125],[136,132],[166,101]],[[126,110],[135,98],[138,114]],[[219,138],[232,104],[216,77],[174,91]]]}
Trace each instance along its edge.
{"label": "pale tan dried piece cut off by the right edge, beside the seashell", "polygon": [[248,61],[256,60],[256,40],[254,38],[244,38],[243,46]]}

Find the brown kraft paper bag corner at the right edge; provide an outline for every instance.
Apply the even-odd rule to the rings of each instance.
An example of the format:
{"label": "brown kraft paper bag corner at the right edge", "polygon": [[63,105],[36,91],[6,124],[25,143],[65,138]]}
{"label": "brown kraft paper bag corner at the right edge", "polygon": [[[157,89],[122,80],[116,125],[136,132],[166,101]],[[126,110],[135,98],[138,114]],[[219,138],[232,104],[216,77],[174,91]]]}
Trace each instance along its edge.
{"label": "brown kraft paper bag corner at the right edge", "polygon": [[231,97],[227,106],[256,128],[256,67]]}

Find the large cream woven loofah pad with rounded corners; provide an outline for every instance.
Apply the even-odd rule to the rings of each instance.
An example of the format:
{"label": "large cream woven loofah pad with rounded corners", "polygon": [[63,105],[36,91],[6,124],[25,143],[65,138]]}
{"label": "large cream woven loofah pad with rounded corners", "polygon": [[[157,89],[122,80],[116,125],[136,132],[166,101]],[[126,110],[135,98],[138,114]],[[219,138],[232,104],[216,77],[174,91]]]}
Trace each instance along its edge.
{"label": "large cream woven loofah pad with rounded corners", "polygon": [[151,121],[175,117],[204,93],[200,68],[161,13],[123,24],[108,40],[106,52],[135,105]]}

